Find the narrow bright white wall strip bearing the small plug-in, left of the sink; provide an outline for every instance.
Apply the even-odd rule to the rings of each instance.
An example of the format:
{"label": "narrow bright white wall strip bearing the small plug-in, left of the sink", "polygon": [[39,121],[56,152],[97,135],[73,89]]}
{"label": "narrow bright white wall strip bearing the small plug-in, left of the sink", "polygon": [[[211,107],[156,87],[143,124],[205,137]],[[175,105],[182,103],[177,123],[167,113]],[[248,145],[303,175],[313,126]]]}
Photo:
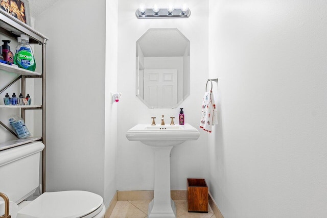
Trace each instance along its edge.
{"label": "narrow bright white wall strip bearing the small plug-in, left of the sink", "polygon": [[116,192],[117,108],[110,104],[111,92],[117,92],[118,0],[106,1],[106,75],[105,75],[105,150],[104,193],[108,206]]}

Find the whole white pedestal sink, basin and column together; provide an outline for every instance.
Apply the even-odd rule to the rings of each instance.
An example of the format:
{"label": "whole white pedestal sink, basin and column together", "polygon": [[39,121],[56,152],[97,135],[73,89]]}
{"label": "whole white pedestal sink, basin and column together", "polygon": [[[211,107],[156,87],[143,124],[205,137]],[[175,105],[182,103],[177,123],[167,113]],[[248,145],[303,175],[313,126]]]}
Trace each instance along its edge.
{"label": "whole white pedestal sink, basin and column together", "polygon": [[199,131],[190,124],[151,126],[138,124],[127,131],[130,141],[141,141],[153,147],[155,153],[154,198],[148,217],[176,218],[175,202],[170,197],[170,152],[186,140],[197,140]]}

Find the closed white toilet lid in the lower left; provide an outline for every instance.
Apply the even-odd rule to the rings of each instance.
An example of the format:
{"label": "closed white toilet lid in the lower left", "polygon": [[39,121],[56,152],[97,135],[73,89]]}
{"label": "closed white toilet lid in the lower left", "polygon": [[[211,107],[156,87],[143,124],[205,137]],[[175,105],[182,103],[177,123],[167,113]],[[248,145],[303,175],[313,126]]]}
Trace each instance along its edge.
{"label": "closed white toilet lid in the lower left", "polygon": [[90,215],[96,210],[100,211],[102,206],[102,197],[88,191],[44,192],[19,210],[18,215],[35,218],[76,218]]}

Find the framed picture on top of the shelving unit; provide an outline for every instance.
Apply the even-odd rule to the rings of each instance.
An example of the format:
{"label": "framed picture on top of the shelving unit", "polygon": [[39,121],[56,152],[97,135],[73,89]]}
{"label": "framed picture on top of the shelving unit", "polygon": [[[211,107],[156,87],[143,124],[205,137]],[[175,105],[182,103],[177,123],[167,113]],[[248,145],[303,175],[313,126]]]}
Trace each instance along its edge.
{"label": "framed picture on top of the shelving unit", "polygon": [[31,26],[28,0],[0,0],[0,10]]}

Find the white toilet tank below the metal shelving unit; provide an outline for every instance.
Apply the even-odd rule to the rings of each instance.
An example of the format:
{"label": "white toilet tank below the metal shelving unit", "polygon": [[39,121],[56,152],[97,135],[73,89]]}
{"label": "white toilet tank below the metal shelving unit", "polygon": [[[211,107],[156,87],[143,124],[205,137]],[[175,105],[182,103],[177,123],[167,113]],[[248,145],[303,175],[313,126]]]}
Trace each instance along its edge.
{"label": "white toilet tank below the metal shelving unit", "polygon": [[0,151],[0,192],[20,203],[39,186],[42,142],[31,142]]}

